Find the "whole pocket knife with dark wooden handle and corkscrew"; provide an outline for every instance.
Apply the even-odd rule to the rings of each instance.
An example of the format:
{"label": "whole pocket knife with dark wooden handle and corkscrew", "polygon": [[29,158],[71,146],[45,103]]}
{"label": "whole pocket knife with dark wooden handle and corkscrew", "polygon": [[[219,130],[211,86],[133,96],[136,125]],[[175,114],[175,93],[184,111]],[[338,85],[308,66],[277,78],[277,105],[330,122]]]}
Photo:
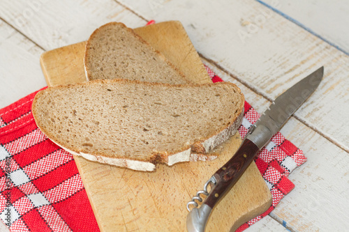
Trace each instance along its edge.
{"label": "whole pocket knife with dark wooden handle and corkscrew", "polygon": [[[322,80],[323,72],[324,67],[322,66],[288,88],[287,91],[276,98],[258,121],[251,126],[235,155],[207,180],[204,190],[197,192],[192,201],[188,202],[186,207],[189,213],[186,217],[186,228],[189,232],[205,231],[207,219],[216,203],[237,183],[242,173],[258,154],[258,151],[268,144],[274,134],[279,132],[288,121],[288,118],[315,91]],[[208,185],[211,186],[209,191],[207,190]],[[202,202],[201,194],[206,195],[206,198],[198,208],[198,202],[195,200]],[[189,208],[191,205],[194,206],[192,210]]]}

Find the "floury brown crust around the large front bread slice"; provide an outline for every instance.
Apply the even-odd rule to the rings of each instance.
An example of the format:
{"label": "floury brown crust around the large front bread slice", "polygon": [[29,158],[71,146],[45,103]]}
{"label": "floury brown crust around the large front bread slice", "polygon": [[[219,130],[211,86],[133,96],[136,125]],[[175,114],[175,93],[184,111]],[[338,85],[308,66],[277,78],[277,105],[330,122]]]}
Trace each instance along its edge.
{"label": "floury brown crust around the large front bread slice", "polygon": [[[64,148],[69,153],[73,153],[74,155],[80,155],[88,160],[98,161],[98,162],[104,162],[108,164],[114,164],[119,167],[127,167],[130,169],[135,169],[139,171],[154,171],[155,164],[161,163],[161,164],[168,164],[173,165],[177,162],[185,162],[185,161],[195,161],[195,160],[202,160],[202,154],[206,154],[211,150],[212,148],[216,147],[218,144],[223,143],[223,141],[227,140],[230,136],[235,134],[237,132],[237,129],[239,125],[242,123],[242,117],[244,112],[244,95],[241,93],[241,90],[235,85],[230,82],[221,82],[221,83],[211,83],[211,84],[190,84],[190,86],[213,86],[217,84],[223,84],[224,85],[230,85],[235,88],[237,93],[242,97],[241,102],[242,104],[239,106],[239,109],[237,111],[237,114],[235,114],[235,118],[230,119],[230,123],[227,125],[227,127],[222,128],[222,130],[217,131],[216,134],[211,134],[211,136],[202,138],[195,142],[195,144],[188,144],[187,146],[183,146],[181,148],[181,151],[179,153],[168,153],[168,152],[161,152],[161,151],[154,151],[151,153],[151,156],[144,160],[136,160],[132,158],[128,158],[128,161],[125,161],[126,159],[120,155],[107,155],[103,153],[84,153],[83,150],[75,150],[70,149],[66,144],[60,144],[59,141],[55,141],[50,134],[50,132],[47,132],[41,124],[40,120],[38,118],[38,112],[36,109],[38,98],[40,98],[40,95],[43,95],[45,91],[50,91],[51,88],[72,88],[74,86],[88,86],[88,85],[94,85],[94,84],[114,84],[118,82],[125,82],[125,83],[133,83],[133,84],[142,84],[145,86],[167,86],[168,88],[177,88],[177,87],[183,87],[186,86],[184,84],[164,84],[164,83],[156,83],[156,82],[140,82],[137,80],[128,80],[128,79],[97,79],[90,82],[82,82],[77,84],[70,84],[66,86],[54,86],[45,88],[43,91],[40,91],[36,94],[34,101],[33,101],[33,107],[32,112],[34,119],[41,131],[44,132],[44,134],[47,135],[55,144],[60,146],[61,148]],[[193,155],[192,155],[193,154]],[[200,155],[201,154],[201,155]],[[180,158],[176,158],[180,157]],[[211,156],[212,160],[216,156]],[[137,165],[138,164],[138,165]],[[152,164],[152,165],[151,165]]]}

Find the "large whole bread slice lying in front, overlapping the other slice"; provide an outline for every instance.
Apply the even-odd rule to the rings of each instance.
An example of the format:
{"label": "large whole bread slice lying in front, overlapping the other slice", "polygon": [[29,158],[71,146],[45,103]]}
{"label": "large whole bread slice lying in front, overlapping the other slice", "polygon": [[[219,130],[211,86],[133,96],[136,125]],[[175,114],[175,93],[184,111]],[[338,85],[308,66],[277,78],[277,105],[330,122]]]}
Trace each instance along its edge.
{"label": "large whole bread slice lying in front, overlapping the other slice", "polygon": [[36,95],[32,112],[40,130],[70,153],[152,171],[157,163],[208,153],[235,134],[243,108],[244,95],[229,82],[113,79],[46,88]]}

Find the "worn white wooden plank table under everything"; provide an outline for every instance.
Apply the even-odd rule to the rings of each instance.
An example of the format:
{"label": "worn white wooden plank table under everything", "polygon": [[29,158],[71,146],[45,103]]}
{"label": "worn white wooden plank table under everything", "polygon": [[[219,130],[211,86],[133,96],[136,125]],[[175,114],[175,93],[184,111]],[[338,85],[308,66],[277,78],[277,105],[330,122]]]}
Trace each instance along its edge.
{"label": "worn white wooden plank table under everything", "polygon": [[43,52],[87,40],[106,22],[138,27],[148,20],[180,20],[202,61],[242,88],[258,111],[325,66],[318,90],[281,130],[308,157],[290,174],[296,187],[246,231],[287,231],[283,225],[290,231],[348,231],[346,0],[2,0],[0,108],[46,85],[39,64]]}

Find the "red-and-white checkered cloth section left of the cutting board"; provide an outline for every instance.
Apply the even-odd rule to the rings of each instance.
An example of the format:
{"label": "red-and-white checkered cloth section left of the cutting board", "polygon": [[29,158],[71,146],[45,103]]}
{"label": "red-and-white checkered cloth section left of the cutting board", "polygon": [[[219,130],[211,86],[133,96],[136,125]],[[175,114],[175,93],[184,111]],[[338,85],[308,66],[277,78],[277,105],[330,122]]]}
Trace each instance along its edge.
{"label": "red-and-white checkered cloth section left of the cutting board", "polygon": [[36,126],[36,93],[0,109],[0,218],[10,231],[99,231],[73,156]]}

